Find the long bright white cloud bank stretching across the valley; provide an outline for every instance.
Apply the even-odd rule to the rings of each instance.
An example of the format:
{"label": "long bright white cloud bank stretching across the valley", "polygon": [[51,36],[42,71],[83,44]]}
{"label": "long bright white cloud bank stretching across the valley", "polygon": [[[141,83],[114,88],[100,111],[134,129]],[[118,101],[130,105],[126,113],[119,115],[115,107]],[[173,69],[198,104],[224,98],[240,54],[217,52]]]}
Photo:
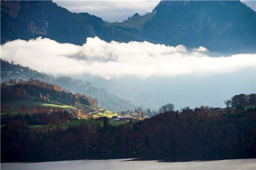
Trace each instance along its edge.
{"label": "long bright white cloud bank stretching across the valley", "polygon": [[48,38],[14,40],[1,45],[1,58],[53,75],[90,74],[105,79],[120,76],[209,75],[256,66],[256,54],[209,57],[207,48],[189,51],[147,41],[105,42],[87,38],[83,46]]}

